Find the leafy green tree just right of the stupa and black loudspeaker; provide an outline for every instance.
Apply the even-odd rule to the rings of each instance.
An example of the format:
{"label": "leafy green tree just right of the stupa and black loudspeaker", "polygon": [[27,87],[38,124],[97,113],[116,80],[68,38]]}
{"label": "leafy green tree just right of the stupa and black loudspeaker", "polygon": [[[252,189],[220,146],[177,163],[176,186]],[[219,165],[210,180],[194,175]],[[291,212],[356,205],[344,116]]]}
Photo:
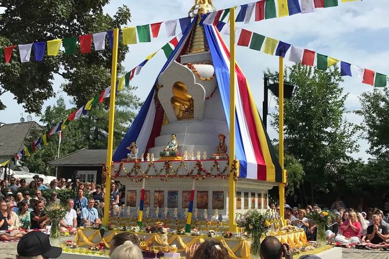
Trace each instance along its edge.
{"label": "leafy green tree just right of the stupa and black loudspeaker", "polygon": [[[313,201],[314,190],[328,192],[335,184],[332,173],[357,150],[352,139],[356,127],[344,119],[347,94],[338,68],[323,71],[296,64],[286,68],[285,79],[295,86],[292,98],[285,99],[286,152],[302,165]],[[272,114],[272,126],[278,129],[278,113]]]}

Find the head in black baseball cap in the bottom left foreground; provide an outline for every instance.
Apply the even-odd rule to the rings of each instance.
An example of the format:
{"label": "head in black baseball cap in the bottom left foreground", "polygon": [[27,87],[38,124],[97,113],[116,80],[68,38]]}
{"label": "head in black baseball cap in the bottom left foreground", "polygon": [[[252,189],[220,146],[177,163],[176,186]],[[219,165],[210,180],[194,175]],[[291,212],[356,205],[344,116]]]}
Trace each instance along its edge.
{"label": "head in black baseball cap in the bottom left foreground", "polygon": [[49,236],[42,233],[32,231],[24,235],[17,244],[17,256],[19,258],[31,258],[42,256],[44,259],[58,258],[62,253],[62,248],[52,247],[50,245]]}

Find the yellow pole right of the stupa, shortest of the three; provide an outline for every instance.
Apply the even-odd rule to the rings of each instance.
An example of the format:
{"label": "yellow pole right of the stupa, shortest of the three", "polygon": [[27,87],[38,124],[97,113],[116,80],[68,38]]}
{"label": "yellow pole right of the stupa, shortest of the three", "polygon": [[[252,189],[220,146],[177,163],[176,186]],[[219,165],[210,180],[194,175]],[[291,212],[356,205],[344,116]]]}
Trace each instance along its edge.
{"label": "yellow pole right of the stupa, shortest of the three", "polygon": [[282,182],[278,184],[278,190],[280,195],[280,217],[284,219],[285,216],[285,185],[286,175],[284,171],[284,58],[280,56],[280,68],[279,68],[279,157],[282,172]]}

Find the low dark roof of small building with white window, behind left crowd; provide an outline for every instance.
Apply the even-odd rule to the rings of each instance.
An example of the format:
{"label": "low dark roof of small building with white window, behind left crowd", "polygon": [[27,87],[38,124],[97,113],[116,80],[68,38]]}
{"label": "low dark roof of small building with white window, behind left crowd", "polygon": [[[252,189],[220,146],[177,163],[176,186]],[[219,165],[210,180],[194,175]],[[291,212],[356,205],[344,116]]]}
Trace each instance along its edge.
{"label": "low dark roof of small building with white window, behind left crowd", "polygon": [[[115,150],[113,150],[115,152]],[[106,149],[81,149],[64,157],[52,160],[49,166],[61,167],[95,167],[102,166],[107,161]]]}

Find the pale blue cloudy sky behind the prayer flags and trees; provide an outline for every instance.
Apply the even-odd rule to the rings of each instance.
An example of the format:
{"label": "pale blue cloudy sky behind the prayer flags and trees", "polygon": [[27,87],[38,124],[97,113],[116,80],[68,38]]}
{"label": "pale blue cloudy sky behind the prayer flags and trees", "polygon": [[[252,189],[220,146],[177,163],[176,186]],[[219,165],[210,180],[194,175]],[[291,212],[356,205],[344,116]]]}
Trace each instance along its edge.
{"label": "pale blue cloudy sky behind the prayer flags and trees", "polygon": [[[117,8],[125,4],[130,8],[132,14],[128,26],[136,26],[185,17],[193,2],[193,0],[154,0],[146,3],[146,1],[139,0],[111,0],[104,7],[104,12],[114,15]],[[216,9],[238,6],[248,2],[248,0],[213,0]],[[239,8],[237,11],[239,11]],[[254,22],[252,18],[249,24],[237,23],[237,26],[388,75],[389,50],[386,47],[386,43],[389,41],[388,13],[387,0],[356,0],[347,3],[340,2],[338,7],[315,9],[313,13],[295,14],[260,22]],[[228,36],[223,37],[228,43]],[[153,39],[151,43],[130,45],[130,51],[122,64],[127,71],[130,71],[141,63],[146,56],[158,50],[169,40],[166,37],[164,25],[162,25],[160,36]],[[271,71],[277,71],[278,57],[247,47],[237,46],[236,59],[247,77],[257,107],[262,114],[263,71],[267,68]],[[291,66],[293,63],[287,59],[288,55],[285,65]],[[138,86],[135,93],[142,100],[146,99],[146,95],[165,62],[166,57],[163,52],[158,52],[132,81],[133,86]],[[352,70],[352,73],[356,75],[355,70]],[[63,79],[60,76],[55,76],[54,90],[57,97],[64,97],[67,106],[70,108],[72,107],[70,98],[60,88],[62,82]],[[371,91],[373,87],[362,84],[356,76],[344,77],[341,87],[344,88],[345,93],[348,93],[345,105],[350,113],[345,115],[346,119],[352,123],[361,124],[362,119],[353,114],[352,111],[360,108],[358,98],[360,94]],[[271,95],[269,94],[269,96]],[[17,104],[13,97],[10,93],[1,95],[1,99],[7,108],[0,111],[0,122],[19,122],[21,116],[26,119],[28,114],[24,113],[22,106]],[[56,98],[45,101],[43,110],[45,107],[55,104]],[[269,99],[269,112],[274,112],[275,99],[274,97]],[[22,113],[23,115],[21,115]],[[31,116],[33,120],[39,121],[40,119],[38,115],[31,114]],[[224,115],[221,114],[220,116]],[[268,116],[268,120],[270,120],[270,116]],[[268,125],[270,125],[270,122],[268,122]],[[268,127],[268,132],[271,139],[278,138],[278,132],[275,129]],[[369,144],[364,139],[357,138],[357,140],[360,150],[351,155],[354,158],[362,158],[366,161],[371,157],[366,153]]]}

